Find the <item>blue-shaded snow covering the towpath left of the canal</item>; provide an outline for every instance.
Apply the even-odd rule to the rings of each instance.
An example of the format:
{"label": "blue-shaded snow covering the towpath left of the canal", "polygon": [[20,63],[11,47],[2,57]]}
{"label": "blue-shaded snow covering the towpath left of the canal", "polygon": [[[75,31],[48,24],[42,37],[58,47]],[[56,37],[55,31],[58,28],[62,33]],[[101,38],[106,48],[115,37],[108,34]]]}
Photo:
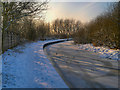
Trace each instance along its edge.
{"label": "blue-shaded snow covering the towpath left of the canal", "polygon": [[53,41],[58,40],[26,43],[6,51],[2,55],[2,87],[68,88],[43,51],[43,45]]}

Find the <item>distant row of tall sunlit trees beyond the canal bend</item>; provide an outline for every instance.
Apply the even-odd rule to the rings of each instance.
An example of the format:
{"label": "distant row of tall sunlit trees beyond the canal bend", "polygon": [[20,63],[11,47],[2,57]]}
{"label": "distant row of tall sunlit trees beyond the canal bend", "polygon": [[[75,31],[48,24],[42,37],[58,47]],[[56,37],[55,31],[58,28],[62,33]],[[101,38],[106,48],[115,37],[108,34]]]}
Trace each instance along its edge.
{"label": "distant row of tall sunlit trees beyond the canal bend", "polygon": [[70,38],[72,34],[82,27],[79,20],[74,19],[56,19],[53,21],[51,30],[52,34],[58,38]]}

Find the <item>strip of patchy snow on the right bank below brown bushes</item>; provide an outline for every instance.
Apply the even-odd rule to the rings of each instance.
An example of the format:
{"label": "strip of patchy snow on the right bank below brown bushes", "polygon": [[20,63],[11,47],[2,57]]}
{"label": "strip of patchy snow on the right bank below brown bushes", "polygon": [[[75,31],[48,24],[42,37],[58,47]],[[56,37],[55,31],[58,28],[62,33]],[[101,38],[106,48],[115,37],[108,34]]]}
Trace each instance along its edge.
{"label": "strip of patchy snow on the right bank below brown bushes", "polygon": [[103,58],[120,60],[120,50],[113,50],[106,47],[95,47],[92,44],[78,44],[79,49],[93,51]]}

